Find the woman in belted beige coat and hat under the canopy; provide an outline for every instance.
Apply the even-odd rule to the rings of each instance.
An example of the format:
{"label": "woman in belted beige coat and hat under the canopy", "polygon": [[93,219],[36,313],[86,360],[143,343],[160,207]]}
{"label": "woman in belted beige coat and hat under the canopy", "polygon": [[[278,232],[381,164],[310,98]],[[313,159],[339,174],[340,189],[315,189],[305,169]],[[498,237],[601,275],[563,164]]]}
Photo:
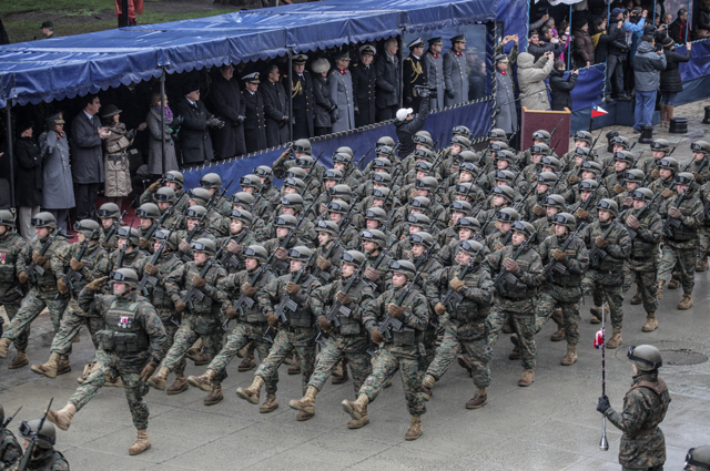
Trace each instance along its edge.
{"label": "woman in belted beige coat and hat under the canopy", "polygon": [[133,143],[135,130],[125,129],[121,120],[121,110],[109,104],[101,113],[103,125],[111,131],[111,135],[103,141],[105,160],[104,195],[109,203],[115,203],[122,207],[123,198],[131,193],[131,166],[129,164],[128,149]]}

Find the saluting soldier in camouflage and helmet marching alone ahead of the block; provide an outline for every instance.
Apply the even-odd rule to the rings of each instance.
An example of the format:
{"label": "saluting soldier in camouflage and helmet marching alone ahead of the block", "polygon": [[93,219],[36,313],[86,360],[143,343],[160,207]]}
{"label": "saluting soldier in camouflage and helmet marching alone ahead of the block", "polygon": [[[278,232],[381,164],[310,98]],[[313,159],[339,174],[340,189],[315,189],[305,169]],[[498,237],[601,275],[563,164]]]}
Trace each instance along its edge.
{"label": "saluting soldier in camouflage and helmet marching alone ahead of the block", "polygon": [[105,322],[97,332],[99,368],[81,385],[67,406],[50,410],[47,419],[68,430],[74,414],[99,392],[106,376],[120,376],[125,398],[133,417],[138,437],[129,454],[140,454],[151,448],[148,437],[148,392],[145,381],[155,371],[163,357],[166,340],[163,322],[155,308],[138,294],[138,274],[131,268],[119,268],[111,274],[113,295],[99,295],[106,277],[88,284],[79,294],[79,307],[88,315],[101,316]]}

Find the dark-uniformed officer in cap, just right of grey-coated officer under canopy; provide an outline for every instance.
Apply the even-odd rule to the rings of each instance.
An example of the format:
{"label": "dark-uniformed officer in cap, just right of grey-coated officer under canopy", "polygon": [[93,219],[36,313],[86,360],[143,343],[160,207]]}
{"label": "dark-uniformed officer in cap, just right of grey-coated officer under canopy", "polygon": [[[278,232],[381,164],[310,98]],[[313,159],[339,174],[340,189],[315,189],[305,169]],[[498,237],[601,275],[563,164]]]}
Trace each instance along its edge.
{"label": "dark-uniformed officer in cap, just right of grey-coated officer under canopy", "polygon": [[365,44],[359,48],[359,63],[351,68],[355,93],[355,127],[375,124],[377,121],[377,73],[373,65],[377,51]]}

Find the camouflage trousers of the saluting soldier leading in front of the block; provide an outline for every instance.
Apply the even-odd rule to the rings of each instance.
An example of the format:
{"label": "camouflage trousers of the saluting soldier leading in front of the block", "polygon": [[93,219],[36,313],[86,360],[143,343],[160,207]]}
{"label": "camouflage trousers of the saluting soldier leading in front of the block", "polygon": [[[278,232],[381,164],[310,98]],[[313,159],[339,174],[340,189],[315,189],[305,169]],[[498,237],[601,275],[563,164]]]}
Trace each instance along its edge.
{"label": "camouflage trousers of the saluting soldier leading in front of the block", "polygon": [[112,351],[98,350],[95,361],[99,366],[84,380],[84,383],[77,388],[77,392],[69,399],[77,410],[81,410],[89,401],[97,396],[99,389],[106,381],[106,377],[120,377],[125,389],[125,399],[129,401],[133,426],[138,430],[148,428],[148,405],[143,396],[150,388],[148,383],[141,381],[141,371],[148,364],[148,351],[135,354],[115,354]]}

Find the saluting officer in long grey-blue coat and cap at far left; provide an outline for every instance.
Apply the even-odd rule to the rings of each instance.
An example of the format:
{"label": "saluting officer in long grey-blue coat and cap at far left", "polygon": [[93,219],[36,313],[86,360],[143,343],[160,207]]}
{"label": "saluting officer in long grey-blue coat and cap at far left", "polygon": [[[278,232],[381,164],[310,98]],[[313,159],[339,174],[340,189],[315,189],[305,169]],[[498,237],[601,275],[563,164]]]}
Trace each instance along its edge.
{"label": "saluting officer in long grey-blue coat and cap at far left", "polygon": [[57,219],[57,231],[65,237],[69,209],[74,207],[74,184],[69,163],[69,143],[64,134],[64,117],[57,113],[47,119],[47,131],[40,135],[44,155],[42,167],[42,207]]}

